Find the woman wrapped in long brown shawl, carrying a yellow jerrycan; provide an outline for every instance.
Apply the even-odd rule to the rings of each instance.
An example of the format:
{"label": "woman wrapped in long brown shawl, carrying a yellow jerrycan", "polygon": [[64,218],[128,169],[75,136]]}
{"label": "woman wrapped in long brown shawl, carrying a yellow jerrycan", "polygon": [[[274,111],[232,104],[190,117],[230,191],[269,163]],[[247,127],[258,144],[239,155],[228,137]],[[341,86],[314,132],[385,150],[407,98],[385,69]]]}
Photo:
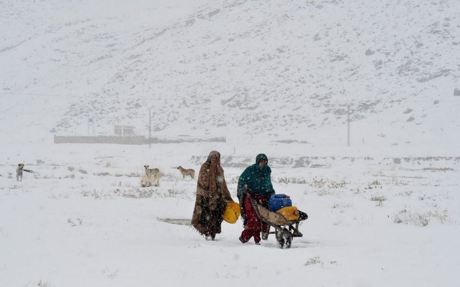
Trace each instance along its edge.
{"label": "woman wrapped in long brown shawl, carrying a yellow jerrycan", "polygon": [[229,201],[233,199],[220,166],[220,153],[211,151],[199,170],[197,199],[192,216],[192,226],[206,240],[214,240],[215,235],[220,233],[222,216]]}

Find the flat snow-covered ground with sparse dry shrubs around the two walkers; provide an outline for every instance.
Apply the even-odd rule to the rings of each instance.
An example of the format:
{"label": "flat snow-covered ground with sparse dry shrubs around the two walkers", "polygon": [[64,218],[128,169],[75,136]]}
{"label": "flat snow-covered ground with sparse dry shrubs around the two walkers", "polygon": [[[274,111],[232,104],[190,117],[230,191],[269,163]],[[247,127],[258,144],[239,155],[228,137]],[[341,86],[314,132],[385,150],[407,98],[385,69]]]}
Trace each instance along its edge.
{"label": "flat snow-covered ground with sparse dry shrubs around the two walkers", "polygon": [[[6,146],[0,286],[457,286],[459,157],[233,144]],[[274,235],[242,244],[241,219],[224,222],[214,242],[167,222],[190,220],[195,200],[196,181],[175,167],[198,170],[211,150],[227,162],[235,200],[240,166],[268,155],[277,193],[310,216],[291,249]],[[35,174],[17,182],[16,162]],[[145,164],[164,173],[159,187],[140,187]]]}

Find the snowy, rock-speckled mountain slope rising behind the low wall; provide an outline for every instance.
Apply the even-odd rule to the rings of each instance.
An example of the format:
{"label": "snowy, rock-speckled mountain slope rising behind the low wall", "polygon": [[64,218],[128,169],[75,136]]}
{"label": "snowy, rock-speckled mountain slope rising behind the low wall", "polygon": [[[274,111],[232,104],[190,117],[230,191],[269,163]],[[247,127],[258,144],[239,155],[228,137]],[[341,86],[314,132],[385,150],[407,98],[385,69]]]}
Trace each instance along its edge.
{"label": "snowy, rock-speckled mountain slope rising behind the low wall", "polygon": [[153,107],[156,136],[343,144],[349,106],[355,144],[455,139],[459,1],[109,2],[2,1],[2,97],[60,134],[147,136]]}

